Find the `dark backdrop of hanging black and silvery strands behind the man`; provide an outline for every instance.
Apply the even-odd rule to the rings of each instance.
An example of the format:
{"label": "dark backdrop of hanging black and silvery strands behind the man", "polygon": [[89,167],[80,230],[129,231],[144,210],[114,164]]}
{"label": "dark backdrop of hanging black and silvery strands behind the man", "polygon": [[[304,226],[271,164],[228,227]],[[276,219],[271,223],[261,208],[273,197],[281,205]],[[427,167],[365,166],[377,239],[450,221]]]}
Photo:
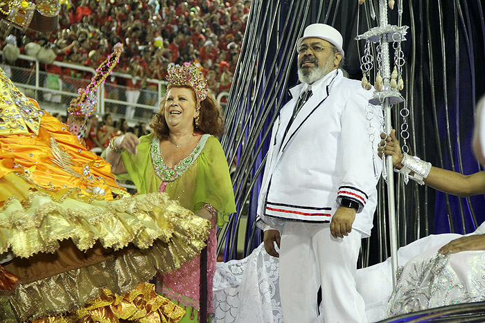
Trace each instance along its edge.
{"label": "dark backdrop of hanging black and silvery strands behind the man", "polygon": [[[485,93],[485,26],[479,0],[403,1],[398,15],[396,1],[389,24],[409,26],[403,41],[405,66],[403,97],[410,154],[432,165],[463,174],[482,168],[471,150],[476,102]],[[376,13],[376,19],[372,14]],[[344,69],[360,80],[364,41],[355,37],[378,26],[378,1],[277,1],[254,0],[243,48],[234,75],[227,109],[227,131],[222,145],[230,161],[236,160],[233,183],[238,212],[219,232],[225,260],[249,254],[261,241],[255,227],[259,185],[272,123],[288,101],[287,89],[297,84],[294,44],[303,29],[315,22],[334,26],[344,36]],[[391,46],[390,46],[391,47]],[[376,46],[373,46],[376,62]],[[391,64],[394,62],[391,50]],[[371,83],[375,75],[371,73]],[[393,107],[393,127],[398,136],[403,124],[400,109]],[[403,142],[401,141],[401,144]],[[398,243],[403,246],[420,237],[443,232],[468,233],[484,221],[484,196],[457,198],[396,176]],[[372,237],[363,242],[360,266],[389,256],[387,196],[380,181],[379,206]],[[238,226],[247,216],[244,255],[237,255]]]}

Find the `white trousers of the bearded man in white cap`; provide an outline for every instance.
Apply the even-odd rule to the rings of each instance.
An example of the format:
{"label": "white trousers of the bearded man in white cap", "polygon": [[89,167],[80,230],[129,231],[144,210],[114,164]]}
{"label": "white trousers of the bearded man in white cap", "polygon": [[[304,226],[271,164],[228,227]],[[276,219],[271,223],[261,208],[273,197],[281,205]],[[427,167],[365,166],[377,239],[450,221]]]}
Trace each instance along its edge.
{"label": "white trousers of the bearded man in white cap", "polygon": [[[285,221],[279,250],[285,323],[367,322],[364,299],[355,288],[361,238],[352,230],[335,239],[328,223]],[[323,313],[317,304],[320,286]]]}

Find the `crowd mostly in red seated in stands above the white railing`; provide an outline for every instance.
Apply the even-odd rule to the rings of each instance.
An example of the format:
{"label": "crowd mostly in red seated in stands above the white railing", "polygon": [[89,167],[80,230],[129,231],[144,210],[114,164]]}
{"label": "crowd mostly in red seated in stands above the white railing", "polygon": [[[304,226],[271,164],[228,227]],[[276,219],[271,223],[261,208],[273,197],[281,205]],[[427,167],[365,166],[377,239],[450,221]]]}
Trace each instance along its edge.
{"label": "crowd mostly in red seated in stands above the white railing", "polygon": [[[200,64],[209,88],[217,95],[231,86],[251,1],[63,0],[61,3],[57,32],[22,35],[19,30],[9,30],[10,34],[17,33],[15,42],[20,53],[28,55],[31,47],[28,44],[37,43],[55,60],[96,67],[112,46],[121,42],[125,52],[116,71],[133,78],[112,77],[107,82],[136,90],[150,89],[153,84],[146,79],[164,80],[169,63],[194,61]],[[3,48],[7,41],[5,38],[0,41]],[[65,77],[86,76],[51,64],[45,68],[48,73]]]}

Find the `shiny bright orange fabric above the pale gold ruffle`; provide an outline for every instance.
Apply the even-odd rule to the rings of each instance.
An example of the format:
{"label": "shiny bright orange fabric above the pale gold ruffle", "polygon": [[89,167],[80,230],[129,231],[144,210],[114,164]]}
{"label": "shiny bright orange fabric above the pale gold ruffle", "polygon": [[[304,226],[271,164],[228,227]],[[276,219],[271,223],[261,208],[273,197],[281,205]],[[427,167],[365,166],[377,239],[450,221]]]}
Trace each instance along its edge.
{"label": "shiny bright orange fabric above the pale gold ruffle", "polygon": [[[32,102],[37,105],[37,102]],[[58,147],[69,154],[72,165],[63,168],[55,163],[51,151],[52,136]],[[69,174],[69,169],[78,176]],[[89,170],[89,173],[83,175],[85,170]],[[38,136],[33,133],[0,136],[0,178],[14,171],[26,172],[30,181],[51,190],[80,187],[84,194],[93,194],[93,190],[99,192],[101,189],[104,190],[105,199],[112,199],[110,187],[119,187],[110,165],[86,150],[78,137],[67,130],[66,124],[48,113],[42,117]],[[101,176],[104,179],[89,176]]]}

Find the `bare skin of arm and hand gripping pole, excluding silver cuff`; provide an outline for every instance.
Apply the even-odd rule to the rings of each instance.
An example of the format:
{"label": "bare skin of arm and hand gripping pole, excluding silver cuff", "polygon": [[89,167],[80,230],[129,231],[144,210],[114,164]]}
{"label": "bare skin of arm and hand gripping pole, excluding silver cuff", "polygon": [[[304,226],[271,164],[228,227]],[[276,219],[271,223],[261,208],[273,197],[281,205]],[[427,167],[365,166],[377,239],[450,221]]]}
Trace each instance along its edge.
{"label": "bare skin of arm and hand gripping pole, excluding silver cuff", "polygon": [[[394,167],[400,169],[403,167],[403,153],[401,152],[399,142],[396,139],[396,130],[391,131],[390,136],[382,136],[386,141],[384,152],[386,156],[392,156]],[[381,147],[384,140],[381,141]],[[382,148],[379,152],[382,156]],[[433,187],[441,192],[468,197],[477,194],[485,194],[485,171],[477,172],[471,175],[463,175],[439,167],[431,167],[430,174],[424,179],[426,185]]]}

